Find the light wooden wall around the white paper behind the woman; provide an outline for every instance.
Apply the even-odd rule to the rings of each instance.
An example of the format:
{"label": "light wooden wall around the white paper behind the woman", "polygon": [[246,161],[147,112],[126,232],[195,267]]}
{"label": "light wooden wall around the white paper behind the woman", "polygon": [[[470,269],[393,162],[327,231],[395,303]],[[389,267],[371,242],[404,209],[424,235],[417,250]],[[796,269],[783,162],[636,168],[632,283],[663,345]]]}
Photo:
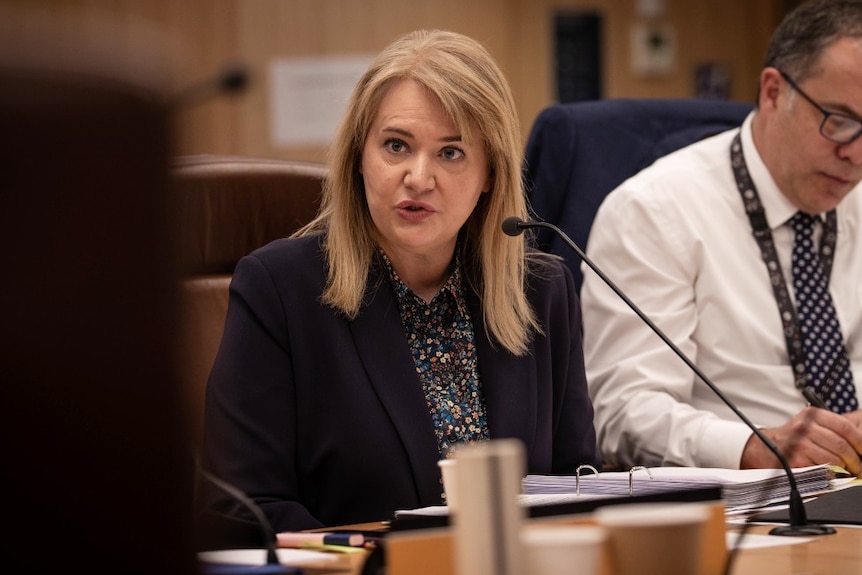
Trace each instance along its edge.
{"label": "light wooden wall around the white paper behind the woman", "polygon": [[[269,67],[289,57],[373,55],[401,34],[416,28],[449,28],[482,41],[506,68],[511,15],[501,0],[314,0],[240,2],[238,45],[251,63],[255,82],[243,96],[243,151],[252,155],[304,160],[323,158],[322,147],[276,147],[272,142]],[[333,110],[340,117],[341,110]]]}

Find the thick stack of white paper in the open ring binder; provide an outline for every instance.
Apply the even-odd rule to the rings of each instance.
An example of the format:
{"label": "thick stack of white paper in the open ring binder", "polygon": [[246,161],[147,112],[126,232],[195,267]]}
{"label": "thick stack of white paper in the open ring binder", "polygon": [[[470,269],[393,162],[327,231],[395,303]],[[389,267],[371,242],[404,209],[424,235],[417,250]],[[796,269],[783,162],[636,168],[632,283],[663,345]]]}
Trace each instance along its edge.
{"label": "thick stack of white paper in the open ring binder", "polygon": [[[792,470],[801,495],[829,489],[827,465]],[[790,482],[783,469],[718,469],[706,467],[638,467],[632,471],[574,475],[528,475],[525,494],[580,493],[584,496],[625,496],[668,493],[702,487],[721,488],[728,510],[743,510],[786,501]]]}

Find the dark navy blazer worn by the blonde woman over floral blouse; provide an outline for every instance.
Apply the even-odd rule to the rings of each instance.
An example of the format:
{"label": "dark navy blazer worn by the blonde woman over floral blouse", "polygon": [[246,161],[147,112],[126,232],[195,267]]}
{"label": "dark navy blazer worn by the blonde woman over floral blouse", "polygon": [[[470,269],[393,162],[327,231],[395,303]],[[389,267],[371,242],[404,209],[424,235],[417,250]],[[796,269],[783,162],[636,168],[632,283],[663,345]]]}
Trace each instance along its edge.
{"label": "dark navy blazer worn by the blonde woman over floral blouse", "polygon": [[[372,269],[353,321],[320,302],[325,281],[317,235],[243,258],[207,387],[204,463],[277,531],[441,503],[431,415],[385,271]],[[552,261],[528,289],[546,333],[525,357],[492,346],[468,296],[491,437],[522,440],[529,473],[598,466],[571,273]]]}

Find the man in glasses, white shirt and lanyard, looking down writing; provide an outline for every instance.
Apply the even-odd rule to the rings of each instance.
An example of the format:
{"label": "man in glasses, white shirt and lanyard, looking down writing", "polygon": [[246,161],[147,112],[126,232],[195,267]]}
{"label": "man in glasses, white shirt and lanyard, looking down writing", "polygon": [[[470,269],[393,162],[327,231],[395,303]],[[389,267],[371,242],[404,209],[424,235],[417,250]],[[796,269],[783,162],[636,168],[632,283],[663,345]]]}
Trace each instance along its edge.
{"label": "man in glasses, white shirt and lanyard, looking down writing", "polygon": [[[861,134],[862,1],[802,3],[772,38],[757,109],[741,129],[665,156],[621,184],[601,205],[587,243],[589,257],[791,466],[833,463],[857,476]],[[758,240],[749,212],[759,207],[768,232]],[[808,405],[801,389],[834,386],[833,378],[815,382],[818,370],[827,379],[822,365],[793,361],[791,336],[800,329],[788,220],[800,211],[822,223],[815,246],[824,235],[834,240],[834,247],[823,242],[820,256],[832,261],[828,291],[846,347],[836,363],[849,358],[850,365],[840,409]],[[583,271],[587,378],[606,463],[778,467],[725,403],[598,276]],[[784,288],[789,298],[780,310]]]}

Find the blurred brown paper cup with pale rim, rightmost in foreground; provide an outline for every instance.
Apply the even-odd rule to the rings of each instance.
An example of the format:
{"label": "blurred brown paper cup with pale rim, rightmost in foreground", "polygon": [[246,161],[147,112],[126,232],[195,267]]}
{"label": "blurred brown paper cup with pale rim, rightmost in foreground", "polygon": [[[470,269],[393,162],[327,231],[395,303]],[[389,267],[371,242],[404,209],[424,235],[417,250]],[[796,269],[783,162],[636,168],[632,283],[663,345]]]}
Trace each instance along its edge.
{"label": "blurred brown paper cup with pale rim, rightmost in foreground", "polygon": [[696,574],[710,508],[699,503],[630,503],[599,507],[615,575]]}

